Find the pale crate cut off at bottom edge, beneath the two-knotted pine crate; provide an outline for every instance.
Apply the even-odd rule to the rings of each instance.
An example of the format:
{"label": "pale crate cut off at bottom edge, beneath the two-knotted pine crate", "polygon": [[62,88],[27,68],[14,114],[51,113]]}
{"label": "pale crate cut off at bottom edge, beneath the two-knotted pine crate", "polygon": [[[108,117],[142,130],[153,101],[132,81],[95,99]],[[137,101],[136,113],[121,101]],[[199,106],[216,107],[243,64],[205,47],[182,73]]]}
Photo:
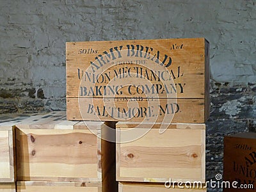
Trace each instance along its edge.
{"label": "pale crate cut off at bottom edge, beneath the two-knotted pine crate", "polygon": [[148,183],[138,183],[138,182],[119,182],[119,192],[169,192],[169,191],[175,191],[175,192],[206,192],[206,189],[201,188],[186,188],[185,186],[182,186],[179,188],[178,186],[175,186],[174,188],[166,188],[163,183],[154,183],[154,184],[148,184]]}

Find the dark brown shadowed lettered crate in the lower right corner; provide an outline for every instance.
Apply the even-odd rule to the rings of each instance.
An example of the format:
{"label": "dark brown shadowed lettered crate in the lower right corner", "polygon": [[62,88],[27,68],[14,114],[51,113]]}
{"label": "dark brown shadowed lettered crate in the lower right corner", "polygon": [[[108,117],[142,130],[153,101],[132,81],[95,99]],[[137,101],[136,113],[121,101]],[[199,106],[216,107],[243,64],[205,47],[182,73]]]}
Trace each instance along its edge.
{"label": "dark brown shadowed lettered crate in the lower right corner", "polygon": [[[256,189],[256,133],[244,132],[225,136],[223,180],[237,181],[236,185],[253,184],[254,189],[223,189],[223,191],[255,191]],[[249,188],[249,186],[247,186]]]}

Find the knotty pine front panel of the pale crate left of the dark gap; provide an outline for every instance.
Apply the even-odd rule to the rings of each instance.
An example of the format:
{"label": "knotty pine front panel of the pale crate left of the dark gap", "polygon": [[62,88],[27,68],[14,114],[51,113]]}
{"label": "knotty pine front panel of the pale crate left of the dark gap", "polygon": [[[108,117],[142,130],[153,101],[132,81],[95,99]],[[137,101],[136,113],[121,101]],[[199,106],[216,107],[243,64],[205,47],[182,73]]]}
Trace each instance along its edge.
{"label": "knotty pine front panel of the pale crate left of the dark gap", "polygon": [[19,180],[101,181],[100,140],[86,130],[17,129]]}

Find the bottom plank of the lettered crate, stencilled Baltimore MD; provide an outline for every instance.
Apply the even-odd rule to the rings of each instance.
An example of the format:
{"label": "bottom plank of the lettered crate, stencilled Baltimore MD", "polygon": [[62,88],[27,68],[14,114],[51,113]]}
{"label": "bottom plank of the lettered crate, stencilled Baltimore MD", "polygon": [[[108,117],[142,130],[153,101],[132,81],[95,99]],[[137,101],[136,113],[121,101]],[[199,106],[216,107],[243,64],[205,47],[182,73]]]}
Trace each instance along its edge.
{"label": "bottom plank of the lettered crate, stencilled Baltimore MD", "polygon": [[[173,116],[167,118],[172,123],[204,123],[204,99],[177,99],[177,102],[168,102],[167,99],[150,101],[152,106],[148,106],[148,100],[142,100],[138,108],[127,108],[126,101],[115,102],[115,107],[120,108],[120,112],[125,110],[124,115],[113,108],[111,103],[102,99],[93,98],[93,106],[90,104],[91,99],[82,98],[80,105],[77,98],[67,98],[67,118],[69,120],[102,120],[102,121],[133,121],[141,122],[163,122],[164,116]],[[176,107],[179,104],[179,108]],[[160,108],[161,106],[161,108]],[[175,109],[176,108],[176,109]],[[82,109],[82,110],[80,110]],[[139,111],[139,112],[138,112]],[[191,121],[193,119],[193,121]]]}

